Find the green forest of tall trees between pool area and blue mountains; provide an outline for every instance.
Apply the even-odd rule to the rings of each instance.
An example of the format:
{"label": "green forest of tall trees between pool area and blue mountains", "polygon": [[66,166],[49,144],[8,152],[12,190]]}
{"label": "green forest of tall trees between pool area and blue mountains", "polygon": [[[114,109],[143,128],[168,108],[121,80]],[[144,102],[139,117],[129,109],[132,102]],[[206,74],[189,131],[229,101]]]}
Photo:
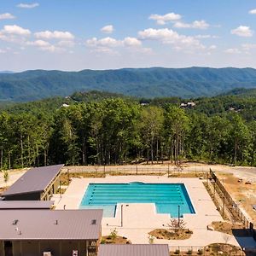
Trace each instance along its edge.
{"label": "green forest of tall trees between pool area and blue mountains", "polygon": [[91,91],[0,106],[1,170],[161,160],[256,166],[255,151],[256,90],[188,100]]}

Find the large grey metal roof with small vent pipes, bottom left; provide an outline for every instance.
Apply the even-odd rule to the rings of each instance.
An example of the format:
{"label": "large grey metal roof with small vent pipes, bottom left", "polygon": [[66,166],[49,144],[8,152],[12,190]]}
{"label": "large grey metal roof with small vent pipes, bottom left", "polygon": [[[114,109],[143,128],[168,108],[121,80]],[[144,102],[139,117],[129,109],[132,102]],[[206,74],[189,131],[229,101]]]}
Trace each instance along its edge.
{"label": "large grey metal roof with small vent pipes, bottom left", "polygon": [[0,211],[0,241],[97,240],[101,223],[102,210]]}

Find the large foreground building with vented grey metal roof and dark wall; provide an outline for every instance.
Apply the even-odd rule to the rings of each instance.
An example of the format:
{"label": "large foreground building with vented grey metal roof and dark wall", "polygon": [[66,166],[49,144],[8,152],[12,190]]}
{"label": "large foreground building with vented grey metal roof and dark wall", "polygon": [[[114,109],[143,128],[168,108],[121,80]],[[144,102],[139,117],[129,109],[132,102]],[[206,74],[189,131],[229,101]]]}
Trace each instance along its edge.
{"label": "large foreground building with vented grey metal roof and dark wall", "polygon": [[0,211],[0,255],[96,255],[102,210]]}

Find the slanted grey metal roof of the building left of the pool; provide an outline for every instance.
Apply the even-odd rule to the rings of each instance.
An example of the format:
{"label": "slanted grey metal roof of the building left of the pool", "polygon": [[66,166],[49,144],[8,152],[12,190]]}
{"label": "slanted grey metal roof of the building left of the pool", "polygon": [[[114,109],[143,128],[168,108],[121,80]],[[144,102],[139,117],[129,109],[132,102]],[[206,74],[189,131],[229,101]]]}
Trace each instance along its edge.
{"label": "slanted grey metal roof of the building left of the pool", "polygon": [[61,172],[64,165],[32,168],[25,172],[12,186],[3,192],[3,196],[19,195],[44,191]]}

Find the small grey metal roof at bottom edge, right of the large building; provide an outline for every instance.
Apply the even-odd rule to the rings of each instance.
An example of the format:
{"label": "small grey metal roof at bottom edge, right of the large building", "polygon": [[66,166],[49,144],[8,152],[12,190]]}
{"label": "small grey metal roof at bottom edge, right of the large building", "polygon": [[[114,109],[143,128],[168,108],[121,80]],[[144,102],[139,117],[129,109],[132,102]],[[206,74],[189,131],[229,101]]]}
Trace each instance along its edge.
{"label": "small grey metal roof at bottom edge, right of the large building", "polygon": [[98,256],[169,256],[167,244],[101,244]]}

